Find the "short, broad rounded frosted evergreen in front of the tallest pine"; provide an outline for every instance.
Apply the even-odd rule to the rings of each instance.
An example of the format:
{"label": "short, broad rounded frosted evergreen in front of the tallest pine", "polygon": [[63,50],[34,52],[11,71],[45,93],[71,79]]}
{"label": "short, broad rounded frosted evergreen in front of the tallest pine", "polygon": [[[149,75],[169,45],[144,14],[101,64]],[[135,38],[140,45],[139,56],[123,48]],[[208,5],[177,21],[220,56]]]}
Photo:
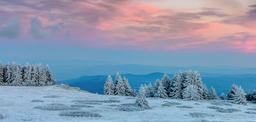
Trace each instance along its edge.
{"label": "short, broad rounded frosted evergreen in front of the tallest pine", "polygon": [[201,100],[201,94],[197,91],[197,86],[189,85],[184,89],[184,100]]}

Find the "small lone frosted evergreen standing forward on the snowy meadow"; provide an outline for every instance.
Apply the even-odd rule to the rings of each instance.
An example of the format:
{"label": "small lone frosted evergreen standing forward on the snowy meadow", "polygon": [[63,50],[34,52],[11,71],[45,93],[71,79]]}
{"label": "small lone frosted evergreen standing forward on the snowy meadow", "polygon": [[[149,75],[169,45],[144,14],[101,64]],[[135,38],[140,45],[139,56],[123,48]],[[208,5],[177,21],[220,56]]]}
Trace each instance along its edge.
{"label": "small lone frosted evergreen standing forward on the snowy meadow", "polygon": [[142,106],[142,107],[148,106],[148,101],[146,99],[146,90],[144,89],[142,84],[141,84],[137,99],[135,101],[135,105]]}

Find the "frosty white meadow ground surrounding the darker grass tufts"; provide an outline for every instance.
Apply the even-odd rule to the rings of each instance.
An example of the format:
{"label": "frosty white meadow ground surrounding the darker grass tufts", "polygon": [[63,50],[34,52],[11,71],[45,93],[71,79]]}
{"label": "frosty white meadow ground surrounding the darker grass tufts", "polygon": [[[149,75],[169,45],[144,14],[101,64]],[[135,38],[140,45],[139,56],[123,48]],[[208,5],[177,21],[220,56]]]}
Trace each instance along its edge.
{"label": "frosty white meadow ground surrounding the darker grass tufts", "polygon": [[[60,96],[59,98],[45,98],[45,96]],[[118,98],[118,99],[114,99]],[[0,86],[0,115],[4,119],[1,122],[173,122],[173,121],[255,121],[256,114],[247,114],[244,112],[256,112],[256,110],[247,110],[248,108],[256,108],[256,104],[248,103],[248,105],[217,106],[223,109],[235,108],[241,111],[233,113],[221,113],[216,109],[207,107],[212,105],[211,100],[205,101],[183,101],[176,99],[150,99],[147,98],[150,110],[142,110],[136,112],[126,112],[118,110],[105,110],[107,105],[121,105],[124,103],[133,103],[135,99],[126,99],[130,97],[122,96],[104,96],[100,94],[79,92],[76,90],[66,90],[56,86],[30,87],[30,86]],[[115,103],[100,103],[102,105],[90,105],[93,108],[82,108],[89,111],[98,111],[102,117],[68,117],[59,116],[57,110],[41,110],[34,107],[47,104],[64,104],[67,106],[76,105],[72,100],[120,100]],[[43,100],[44,102],[31,102],[32,100]],[[168,102],[178,102],[181,105],[171,107],[162,106]],[[200,105],[195,105],[200,104]],[[190,106],[193,108],[179,108],[176,106]],[[100,111],[101,109],[102,111]],[[104,112],[105,110],[105,112]],[[196,118],[189,116],[189,113],[207,113],[214,116]]]}

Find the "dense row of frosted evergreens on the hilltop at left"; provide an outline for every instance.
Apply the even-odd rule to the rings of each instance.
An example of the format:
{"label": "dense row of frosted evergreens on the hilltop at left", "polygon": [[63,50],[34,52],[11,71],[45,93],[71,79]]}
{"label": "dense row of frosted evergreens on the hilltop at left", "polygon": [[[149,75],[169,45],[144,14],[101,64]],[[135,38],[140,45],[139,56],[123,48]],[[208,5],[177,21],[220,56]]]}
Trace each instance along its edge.
{"label": "dense row of frosted evergreens on the hilltop at left", "polygon": [[55,85],[52,71],[48,64],[45,68],[41,63],[35,65],[20,64],[12,62],[12,65],[4,65],[0,61],[0,85],[2,86],[48,86]]}

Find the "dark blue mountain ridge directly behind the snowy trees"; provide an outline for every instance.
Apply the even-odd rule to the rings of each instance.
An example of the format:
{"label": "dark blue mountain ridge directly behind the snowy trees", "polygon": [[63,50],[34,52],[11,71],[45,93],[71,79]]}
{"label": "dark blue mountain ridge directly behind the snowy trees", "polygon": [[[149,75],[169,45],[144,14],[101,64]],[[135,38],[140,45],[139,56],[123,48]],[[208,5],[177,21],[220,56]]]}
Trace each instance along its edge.
{"label": "dark blue mountain ridge directly behind the snowy trees", "polygon": [[[129,84],[136,91],[139,90],[141,84],[154,85],[156,79],[163,77],[163,73],[151,73],[147,75],[133,75],[133,74],[120,74],[123,78],[124,76],[128,79]],[[174,74],[167,74],[170,79],[173,78]],[[242,75],[223,75],[223,74],[210,74],[201,73],[201,78],[203,83],[206,84],[208,89],[211,86],[215,88],[217,95],[220,96],[222,92],[227,94],[233,83],[236,85],[241,85],[245,92],[252,91],[256,89],[256,74],[242,74]],[[67,81],[59,81],[57,84],[63,82],[68,83],[72,87],[80,87],[82,90],[89,91],[92,93],[103,94],[103,86],[107,79],[107,75],[96,75],[96,76],[82,76],[76,79],[71,79]],[[113,81],[115,80],[115,75],[111,76]]]}

